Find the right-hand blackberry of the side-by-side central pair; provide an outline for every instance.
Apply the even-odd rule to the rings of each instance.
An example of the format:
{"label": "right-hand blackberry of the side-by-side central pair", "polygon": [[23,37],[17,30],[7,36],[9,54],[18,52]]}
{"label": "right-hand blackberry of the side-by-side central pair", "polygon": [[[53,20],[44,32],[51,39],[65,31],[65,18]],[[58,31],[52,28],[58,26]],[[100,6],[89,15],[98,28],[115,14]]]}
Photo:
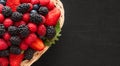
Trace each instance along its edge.
{"label": "right-hand blackberry of the side-by-side central pair", "polygon": [[27,37],[30,32],[28,26],[24,24],[18,27],[18,31],[22,37]]}

